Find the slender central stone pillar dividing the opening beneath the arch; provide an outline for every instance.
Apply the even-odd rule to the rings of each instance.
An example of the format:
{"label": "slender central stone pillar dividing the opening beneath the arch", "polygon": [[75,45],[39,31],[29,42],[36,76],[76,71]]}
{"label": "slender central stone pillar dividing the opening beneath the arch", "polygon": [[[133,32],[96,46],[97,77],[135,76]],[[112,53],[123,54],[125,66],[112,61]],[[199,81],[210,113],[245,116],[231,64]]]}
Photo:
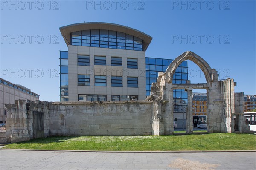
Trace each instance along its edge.
{"label": "slender central stone pillar dividing the opening beneath the arch", "polygon": [[193,133],[193,94],[188,89],[188,107],[186,109],[186,133]]}

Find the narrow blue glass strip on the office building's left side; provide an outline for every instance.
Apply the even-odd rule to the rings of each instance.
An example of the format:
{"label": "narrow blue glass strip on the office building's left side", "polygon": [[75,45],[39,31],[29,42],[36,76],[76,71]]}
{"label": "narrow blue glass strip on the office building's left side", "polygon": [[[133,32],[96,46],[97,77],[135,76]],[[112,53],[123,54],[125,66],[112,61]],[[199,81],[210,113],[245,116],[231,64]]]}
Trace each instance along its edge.
{"label": "narrow blue glass strip on the office building's left side", "polygon": [[68,52],[60,51],[60,97],[68,101]]}

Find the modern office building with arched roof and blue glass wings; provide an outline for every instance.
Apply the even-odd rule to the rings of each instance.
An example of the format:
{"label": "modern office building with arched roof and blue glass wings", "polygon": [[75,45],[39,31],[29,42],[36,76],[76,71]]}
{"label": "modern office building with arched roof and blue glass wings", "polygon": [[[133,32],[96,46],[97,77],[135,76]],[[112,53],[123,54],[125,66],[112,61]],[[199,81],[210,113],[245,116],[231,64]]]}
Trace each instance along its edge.
{"label": "modern office building with arched roof and blue glass wings", "polygon": [[[145,57],[152,37],[112,23],[77,23],[60,28],[68,51],[60,51],[61,101],[145,100],[158,72],[172,60]],[[187,61],[176,70],[176,83],[187,80]],[[178,106],[184,90],[174,92]],[[181,112],[182,110],[180,110]]]}

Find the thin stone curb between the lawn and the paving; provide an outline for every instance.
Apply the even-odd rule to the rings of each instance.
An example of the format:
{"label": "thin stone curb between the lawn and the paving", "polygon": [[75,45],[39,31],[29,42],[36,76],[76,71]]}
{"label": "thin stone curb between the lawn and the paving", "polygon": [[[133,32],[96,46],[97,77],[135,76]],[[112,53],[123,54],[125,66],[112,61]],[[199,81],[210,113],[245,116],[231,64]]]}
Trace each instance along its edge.
{"label": "thin stone curb between the lawn and the paving", "polygon": [[48,152],[103,152],[103,153],[199,153],[199,152],[256,152],[256,150],[174,150],[174,151],[105,151],[105,150],[29,150],[29,149],[0,149],[22,151],[48,151]]}

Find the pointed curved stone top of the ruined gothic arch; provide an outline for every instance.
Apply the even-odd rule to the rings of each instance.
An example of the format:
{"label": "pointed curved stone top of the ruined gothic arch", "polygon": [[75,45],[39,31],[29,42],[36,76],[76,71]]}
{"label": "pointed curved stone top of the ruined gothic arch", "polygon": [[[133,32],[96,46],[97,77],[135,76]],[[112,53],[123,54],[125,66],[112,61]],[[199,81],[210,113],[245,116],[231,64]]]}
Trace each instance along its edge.
{"label": "pointed curved stone top of the ruined gothic arch", "polygon": [[180,55],[179,57],[175,58],[174,61],[172,61],[172,63],[168,66],[165,72],[166,76],[168,76],[166,80],[169,80],[169,82],[172,83],[172,78],[175,73],[175,70],[185,60],[191,60],[196,65],[199,66],[199,68],[204,73],[207,83],[214,81],[213,73],[215,72],[213,71],[213,69],[209,66],[209,64],[203,58],[201,58],[199,55],[191,51],[184,52],[182,55]]}

